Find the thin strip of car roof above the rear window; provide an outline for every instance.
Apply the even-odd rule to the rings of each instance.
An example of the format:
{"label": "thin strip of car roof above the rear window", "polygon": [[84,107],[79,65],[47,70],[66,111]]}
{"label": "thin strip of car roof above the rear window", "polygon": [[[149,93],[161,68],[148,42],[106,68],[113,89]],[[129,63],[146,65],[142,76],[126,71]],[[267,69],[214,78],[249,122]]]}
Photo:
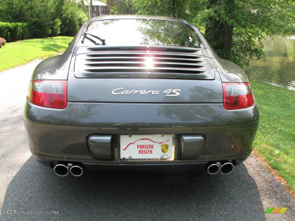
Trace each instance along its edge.
{"label": "thin strip of car roof above the rear window", "polygon": [[183,19],[173,18],[173,17],[165,17],[165,16],[155,16],[155,15],[102,15],[98,17],[94,17],[90,19],[88,22],[101,21],[101,20],[110,20],[110,19],[153,19],[153,20],[163,20],[163,21],[171,21],[171,22],[181,22],[185,24],[189,24]]}

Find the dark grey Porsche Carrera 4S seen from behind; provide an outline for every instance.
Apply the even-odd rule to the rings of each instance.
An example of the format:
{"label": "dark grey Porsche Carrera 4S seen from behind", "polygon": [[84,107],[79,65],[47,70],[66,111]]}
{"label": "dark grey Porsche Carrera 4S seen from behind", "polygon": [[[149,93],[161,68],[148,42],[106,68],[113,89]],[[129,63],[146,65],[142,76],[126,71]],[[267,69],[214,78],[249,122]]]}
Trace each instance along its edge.
{"label": "dark grey Porsche Carrera 4S seen from behind", "polygon": [[35,69],[24,109],[33,156],[84,169],[229,174],[259,121],[249,81],[181,19],[101,16]]}

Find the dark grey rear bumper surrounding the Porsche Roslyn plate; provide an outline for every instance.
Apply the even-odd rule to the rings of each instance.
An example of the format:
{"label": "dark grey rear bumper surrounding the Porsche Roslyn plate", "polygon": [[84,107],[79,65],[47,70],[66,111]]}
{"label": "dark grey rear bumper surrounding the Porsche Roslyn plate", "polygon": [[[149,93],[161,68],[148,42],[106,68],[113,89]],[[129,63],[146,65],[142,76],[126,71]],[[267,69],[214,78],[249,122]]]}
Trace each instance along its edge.
{"label": "dark grey rear bumper surrounding the Porsche Roslyn plate", "polygon": [[[252,151],[258,121],[256,105],[228,111],[222,104],[68,103],[57,110],[27,101],[24,112],[29,147],[37,160],[82,162],[89,168],[198,167],[223,160],[240,164]],[[175,160],[118,161],[119,135],[124,134],[175,134]],[[94,159],[89,135],[112,137],[109,159]],[[189,149],[181,142],[190,135],[205,140],[193,158],[184,157]]]}

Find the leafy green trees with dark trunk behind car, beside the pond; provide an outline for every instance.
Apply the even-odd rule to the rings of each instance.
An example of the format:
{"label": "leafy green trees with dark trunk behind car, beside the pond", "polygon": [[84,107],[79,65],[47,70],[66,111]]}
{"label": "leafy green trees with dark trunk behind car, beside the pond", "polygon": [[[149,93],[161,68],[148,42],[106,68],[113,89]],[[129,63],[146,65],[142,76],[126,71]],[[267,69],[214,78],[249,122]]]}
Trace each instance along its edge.
{"label": "leafy green trees with dark trunk behind car, beside the pond", "polygon": [[219,57],[248,65],[265,57],[267,35],[295,30],[293,0],[132,0],[139,14],[185,19],[203,31]]}

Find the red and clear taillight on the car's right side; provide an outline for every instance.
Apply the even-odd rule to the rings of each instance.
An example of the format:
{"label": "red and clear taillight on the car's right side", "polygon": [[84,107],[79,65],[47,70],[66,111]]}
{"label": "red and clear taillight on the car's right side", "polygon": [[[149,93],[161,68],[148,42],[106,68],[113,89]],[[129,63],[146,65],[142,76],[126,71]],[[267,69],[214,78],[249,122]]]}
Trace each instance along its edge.
{"label": "red and clear taillight on the car's right side", "polygon": [[223,106],[226,110],[247,108],[254,104],[249,83],[222,83]]}

